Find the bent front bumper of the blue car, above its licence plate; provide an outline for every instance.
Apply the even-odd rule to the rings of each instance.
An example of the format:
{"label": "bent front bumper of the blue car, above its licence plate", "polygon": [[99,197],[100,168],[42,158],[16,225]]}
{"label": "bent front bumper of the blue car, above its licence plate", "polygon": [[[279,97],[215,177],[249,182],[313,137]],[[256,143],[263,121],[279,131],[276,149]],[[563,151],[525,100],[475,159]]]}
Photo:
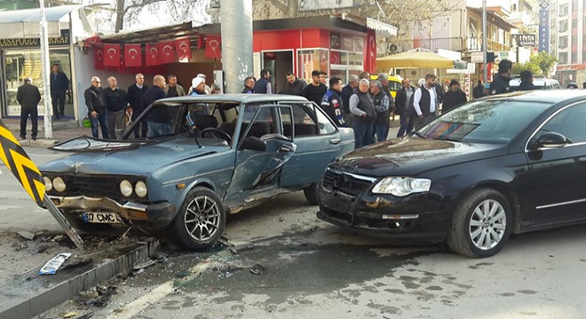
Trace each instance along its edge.
{"label": "bent front bumper of the blue car, above its licence plate", "polygon": [[115,213],[131,224],[150,224],[155,227],[167,226],[172,221],[171,206],[166,201],[146,205],[131,201],[121,204],[111,198],[91,198],[87,196],[49,196],[49,198],[64,213]]}

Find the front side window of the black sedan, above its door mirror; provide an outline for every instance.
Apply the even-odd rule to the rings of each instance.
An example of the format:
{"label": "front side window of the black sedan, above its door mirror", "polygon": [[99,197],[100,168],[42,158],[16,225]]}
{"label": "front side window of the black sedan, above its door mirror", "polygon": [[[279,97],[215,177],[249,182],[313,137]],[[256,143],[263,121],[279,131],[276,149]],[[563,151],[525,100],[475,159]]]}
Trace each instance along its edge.
{"label": "front side window of the black sedan, above its door mirror", "polygon": [[554,115],[541,130],[556,132],[566,136],[573,143],[586,142],[586,104],[572,105]]}

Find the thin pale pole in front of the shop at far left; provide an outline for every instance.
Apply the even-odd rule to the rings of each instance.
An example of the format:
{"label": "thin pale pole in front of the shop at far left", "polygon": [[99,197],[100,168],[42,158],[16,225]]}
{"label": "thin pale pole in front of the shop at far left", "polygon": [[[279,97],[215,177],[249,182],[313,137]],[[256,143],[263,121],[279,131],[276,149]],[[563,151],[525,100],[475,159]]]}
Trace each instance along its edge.
{"label": "thin pale pole in front of the shop at far left", "polygon": [[53,138],[51,121],[51,86],[49,85],[49,35],[47,33],[47,19],[44,16],[44,0],[39,0],[41,7],[41,65],[43,66],[43,100],[44,100],[44,138]]}

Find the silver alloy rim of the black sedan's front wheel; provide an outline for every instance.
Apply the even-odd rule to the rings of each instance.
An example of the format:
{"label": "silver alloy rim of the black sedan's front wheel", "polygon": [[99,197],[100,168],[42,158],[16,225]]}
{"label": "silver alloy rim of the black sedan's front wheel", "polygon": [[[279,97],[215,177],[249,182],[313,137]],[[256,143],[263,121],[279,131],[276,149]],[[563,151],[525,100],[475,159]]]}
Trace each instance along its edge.
{"label": "silver alloy rim of the black sedan's front wheel", "polygon": [[507,215],[498,201],[487,199],[474,208],[470,217],[469,235],[477,248],[495,248],[503,239],[506,228]]}

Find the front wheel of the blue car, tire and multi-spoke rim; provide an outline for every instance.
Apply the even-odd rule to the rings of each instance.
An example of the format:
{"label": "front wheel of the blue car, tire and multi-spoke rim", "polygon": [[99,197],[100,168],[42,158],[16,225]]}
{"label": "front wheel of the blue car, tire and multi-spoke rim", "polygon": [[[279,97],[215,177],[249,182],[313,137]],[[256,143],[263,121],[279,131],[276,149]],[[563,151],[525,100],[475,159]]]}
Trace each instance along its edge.
{"label": "front wheel of the blue car, tire and multi-spoke rim", "polygon": [[202,251],[216,244],[226,227],[226,212],[218,195],[205,187],[189,191],[170,234],[176,243],[191,251]]}

